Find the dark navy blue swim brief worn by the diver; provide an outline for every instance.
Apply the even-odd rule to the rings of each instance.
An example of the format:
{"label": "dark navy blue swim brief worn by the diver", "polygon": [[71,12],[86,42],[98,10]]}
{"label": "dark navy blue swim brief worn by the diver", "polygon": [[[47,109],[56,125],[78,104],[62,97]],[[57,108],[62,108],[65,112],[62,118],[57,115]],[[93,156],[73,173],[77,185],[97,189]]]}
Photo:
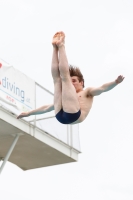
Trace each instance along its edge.
{"label": "dark navy blue swim brief worn by the diver", "polygon": [[81,111],[79,110],[77,113],[67,113],[61,109],[56,114],[56,119],[62,124],[71,124],[75,122],[81,115]]}

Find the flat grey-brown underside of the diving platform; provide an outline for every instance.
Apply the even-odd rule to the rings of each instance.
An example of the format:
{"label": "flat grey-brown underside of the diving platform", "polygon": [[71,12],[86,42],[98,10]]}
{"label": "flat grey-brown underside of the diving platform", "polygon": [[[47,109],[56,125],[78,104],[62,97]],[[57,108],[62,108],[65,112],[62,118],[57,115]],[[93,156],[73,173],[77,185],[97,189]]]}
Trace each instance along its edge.
{"label": "flat grey-brown underside of the diving platform", "polygon": [[[14,136],[22,130],[0,119],[0,158],[4,159]],[[24,133],[9,158],[11,163],[23,170],[75,162],[72,157],[52,148],[44,142]]]}

